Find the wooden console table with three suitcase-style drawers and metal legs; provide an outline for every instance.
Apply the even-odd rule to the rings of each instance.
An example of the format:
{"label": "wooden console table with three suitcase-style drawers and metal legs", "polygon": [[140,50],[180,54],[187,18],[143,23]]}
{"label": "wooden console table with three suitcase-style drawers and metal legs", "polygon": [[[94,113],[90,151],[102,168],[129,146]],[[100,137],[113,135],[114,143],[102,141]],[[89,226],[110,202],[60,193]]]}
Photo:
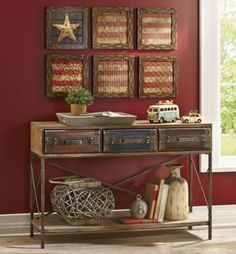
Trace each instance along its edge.
{"label": "wooden console table with three suitcase-style drawers and metal legs", "polygon": [[[168,163],[173,163],[183,156],[189,157],[189,218],[184,221],[164,221],[163,223],[125,225],[117,223],[116,219],[109,219],[105,224],[70,226],[54,215],[52,220],[45,212],[45,171],[47,165],[60,170],[81,175],[69,168],[60,166],[50,159],[71,159],[82,157],[120,157],[123,156],[160,156],[174,155],[175,157],[156,167],[145,169],[143,172],[127,177],[123,181],[111,185],[112,188],[127,191],[120,187],[120,183],[134,179],[137,176],[157,170]],[[208,156],[208,194],[201,190],[208,206],[207,218],[195,217],[192,213],[192,185],[194,170],[194,154]],[[36,160],[40,161],[39,167]],[[35,173],[39,168],[39,180],[36,183]],[[79,232],[117,232],[136,230],[158,230],[160,228],[208,226],[208,239],[212,238],[212,125],[211,124],[183,124],[163,123],[150,124],[145,120],[137,120],[132,125],[119,126],[88,126],[69,127],[59,122],[31,122],[31,160],[30,160],[30,214],[31,237],[34,229],[41,235],[41,248],[45,246],[47,233],[79,233]],[[197,175],[198,176],[198,175]],[[92,177],[92,176],[90,176]],[[99,180],[99,179],[98,179]],[[37,189],[39,188],[39,195]],[[35,214],[37,207],[39,216]]]}

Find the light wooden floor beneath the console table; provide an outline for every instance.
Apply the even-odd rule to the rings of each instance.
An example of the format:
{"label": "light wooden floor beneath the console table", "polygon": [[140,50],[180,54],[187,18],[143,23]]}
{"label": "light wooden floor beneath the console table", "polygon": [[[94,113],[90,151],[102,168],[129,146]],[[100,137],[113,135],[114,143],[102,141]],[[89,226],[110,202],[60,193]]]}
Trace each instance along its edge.
{"label": "light wooden floor beneath the console table", "polygon": [[228,254],[236,253],[236,227],[214,228],[213,240],[207,229],[196,228],[132,233],[47,235],[45,249],[39,236],[0,236],[0,253],[47,254]]}

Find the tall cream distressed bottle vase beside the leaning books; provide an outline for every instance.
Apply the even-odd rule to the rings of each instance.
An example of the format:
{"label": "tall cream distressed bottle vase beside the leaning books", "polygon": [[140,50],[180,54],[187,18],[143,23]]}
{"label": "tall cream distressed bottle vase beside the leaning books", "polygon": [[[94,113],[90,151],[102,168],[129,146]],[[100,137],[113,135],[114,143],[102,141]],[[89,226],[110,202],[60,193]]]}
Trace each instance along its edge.
{"label": "tall cream distressed bottle vase beside the leaning books", "polygon": [[170,176],[165,180],[169,184],[165,219],[186,220],[188,218],[188,183],[181,177],[181,164],[167,165]]}

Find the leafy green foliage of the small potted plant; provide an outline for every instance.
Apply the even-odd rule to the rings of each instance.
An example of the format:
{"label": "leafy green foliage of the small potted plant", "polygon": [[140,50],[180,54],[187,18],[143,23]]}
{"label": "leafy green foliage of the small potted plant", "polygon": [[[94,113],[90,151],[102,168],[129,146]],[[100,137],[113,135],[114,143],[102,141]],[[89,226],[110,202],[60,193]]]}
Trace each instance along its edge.
{"label": "leafy green foliage of the small potted plant", "polygon": [[68,90],[65,101],[69,104],[90,105],[93,103],[93,96],[86,88],[72,87]]}

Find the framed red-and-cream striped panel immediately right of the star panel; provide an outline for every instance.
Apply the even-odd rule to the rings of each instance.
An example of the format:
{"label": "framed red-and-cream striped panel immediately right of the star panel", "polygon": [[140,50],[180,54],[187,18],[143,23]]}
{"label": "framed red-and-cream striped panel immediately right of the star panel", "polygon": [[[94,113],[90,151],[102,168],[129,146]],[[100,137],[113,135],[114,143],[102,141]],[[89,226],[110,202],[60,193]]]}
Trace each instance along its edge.
{"label": "framed red-and-cream striped panel immediately right of the star panel", "polygon": [[133,8],[93,8],[93,48],[133,48]]}

